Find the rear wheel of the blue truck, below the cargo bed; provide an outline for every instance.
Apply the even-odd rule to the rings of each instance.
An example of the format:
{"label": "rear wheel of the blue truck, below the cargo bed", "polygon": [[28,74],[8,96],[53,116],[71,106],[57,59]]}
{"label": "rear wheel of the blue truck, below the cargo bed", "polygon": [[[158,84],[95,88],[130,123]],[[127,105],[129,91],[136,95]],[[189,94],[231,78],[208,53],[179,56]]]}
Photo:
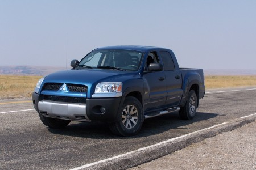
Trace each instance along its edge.
{"label": "rear wheel of the blue truck, below the cargo bed", "polygon": [[197,96],[194,90],[189,91],[187,101],[184,107],[180,108],[179,115],[181,119],[192,120],[196,115]]}

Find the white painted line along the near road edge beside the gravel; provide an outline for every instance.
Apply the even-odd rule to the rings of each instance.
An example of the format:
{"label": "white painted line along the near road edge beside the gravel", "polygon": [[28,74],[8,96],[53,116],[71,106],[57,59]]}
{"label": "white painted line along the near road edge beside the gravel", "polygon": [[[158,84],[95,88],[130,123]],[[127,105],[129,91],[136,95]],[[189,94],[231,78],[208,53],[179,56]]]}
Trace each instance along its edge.
{"label": "white painted line along the near road edge beside the gravel", "polygon": [[[240,117],[240,118],[245,118],[245,117],[250,117],[250,116],[256,116],[256,113],[250,114],[250,115],[248,115],[248,116]],[[221,125],[224,125],[224,124],[228,124],[229,122],[233,122],[233,120],[228,121],[228,122],[224,122],[224,123],[221,123],[221,124],[218,124],[218,125],[210,126],[209,128],[197,130],[197,131],[194,131],[194,132],[192,132],[192,133],[182,135],[182,136],[180,136],[180,137],[168,139],[167,141],[159,142],[159,143],[156,143],[156,144],[154,144],[154,145],[150,145],[150,146],[147,146],[147,147],[139,148],[138,150],[131,151],[131,152],[127,152],[127,153],[121,154],[121,155],[117,155],[117,156],[114,156],[114,157],[112,157],[112,158],[107,158],[107,159],[104,159],[104,160],[100,160],[100,161],[98,161],[98,162],[94,162],[94,163],[82,165],[81,167],[73,168],[73,169],[70,169],[70,170],[80,170],[80,169],[84,169],[84,168],[91,167],[91,166],[96,165],[96,164],[108,162],[108,161],[113,160],[113,159],[121,158],[122,156],[130,155],[130,154],[133,154],[133,153],[138,152],[138,151],[147,150],[148,148],[152,148],[152,147],[155,147],[155,146],[162,145],[162,144],[164,144],[164,143],[172,142],[172,141],[174,141],[174,140],[176,140],[176,139],[180,139],[180,138],[187,137],[187,136],[189,136],[189,135],[198,133],[198,132],[200,132],[200,131],[204,131],[204,130],[208,130],[208,129],[215,128],[215,127],[217,127],[217,126],[221,126]]]}

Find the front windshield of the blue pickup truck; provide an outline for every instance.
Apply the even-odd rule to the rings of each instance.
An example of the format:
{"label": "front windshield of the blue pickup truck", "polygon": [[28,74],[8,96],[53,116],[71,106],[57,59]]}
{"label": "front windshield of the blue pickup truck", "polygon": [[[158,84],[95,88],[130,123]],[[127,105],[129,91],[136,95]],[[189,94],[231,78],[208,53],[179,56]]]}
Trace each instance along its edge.
{"label": "front windshield of the blue pickup truck", "polygon": [[94,50],[80,61],[79,66],[135,71],[141,59],[142,52],[134,50]]}

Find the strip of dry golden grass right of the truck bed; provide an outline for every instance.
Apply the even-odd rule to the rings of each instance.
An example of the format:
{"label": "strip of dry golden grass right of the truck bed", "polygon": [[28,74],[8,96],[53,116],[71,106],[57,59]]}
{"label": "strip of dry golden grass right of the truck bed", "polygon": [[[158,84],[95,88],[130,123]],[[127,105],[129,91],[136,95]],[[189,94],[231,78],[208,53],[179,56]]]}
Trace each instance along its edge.
{"label": "strip of dry golden grass right of the truck bed", "polygon": [[205,76],[206,88],[255,86],[256,76]]}

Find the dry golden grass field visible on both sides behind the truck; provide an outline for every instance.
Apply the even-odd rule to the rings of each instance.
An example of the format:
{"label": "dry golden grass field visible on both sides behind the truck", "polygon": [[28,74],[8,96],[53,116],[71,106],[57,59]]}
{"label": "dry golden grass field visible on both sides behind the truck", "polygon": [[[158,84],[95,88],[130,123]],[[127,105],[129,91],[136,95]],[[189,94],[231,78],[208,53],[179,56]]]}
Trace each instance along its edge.
{"label": "dry golden grass field visible on both sides behind the truck", "polygon": [[[30,99],[42,76],[0,75],[1,99]],[[206,88],[256,86],[256,76],[205,76]]]}

